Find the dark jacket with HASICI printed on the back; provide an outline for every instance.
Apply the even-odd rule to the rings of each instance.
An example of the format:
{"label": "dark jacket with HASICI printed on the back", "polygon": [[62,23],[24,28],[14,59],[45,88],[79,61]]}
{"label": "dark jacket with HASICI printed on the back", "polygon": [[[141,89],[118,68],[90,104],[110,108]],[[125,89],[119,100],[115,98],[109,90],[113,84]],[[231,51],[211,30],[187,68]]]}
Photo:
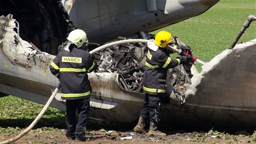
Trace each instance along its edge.
{"label": "dark jacket with HASICI printed on the back", "polygon": [[92,72],[96,66],[90,53],[69,47],[70,51],[59,52],[50,64],[53,75],[61,82],[61,98],[63,100],[77,100],[91,94],[91,84],[88,80],[88,72]]}

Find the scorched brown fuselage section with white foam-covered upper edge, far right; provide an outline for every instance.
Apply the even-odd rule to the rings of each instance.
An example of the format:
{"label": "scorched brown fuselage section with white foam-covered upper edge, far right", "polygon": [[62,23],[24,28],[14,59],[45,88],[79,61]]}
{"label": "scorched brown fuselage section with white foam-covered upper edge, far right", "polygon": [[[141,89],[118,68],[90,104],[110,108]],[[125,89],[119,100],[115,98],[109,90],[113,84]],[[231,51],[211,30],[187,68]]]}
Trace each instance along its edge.
{"label": "scorched brown fuselage section with white foam-covered upper edge, far right", "polygon": [[192,87],[187,87],[185,111],[179,114],[184,121],[218,127],[256,128],[253,122],[256,120],[255,42],[253,39],[237,44],[234,50],[223,51],[204,64],[201,73],[194,75]]}

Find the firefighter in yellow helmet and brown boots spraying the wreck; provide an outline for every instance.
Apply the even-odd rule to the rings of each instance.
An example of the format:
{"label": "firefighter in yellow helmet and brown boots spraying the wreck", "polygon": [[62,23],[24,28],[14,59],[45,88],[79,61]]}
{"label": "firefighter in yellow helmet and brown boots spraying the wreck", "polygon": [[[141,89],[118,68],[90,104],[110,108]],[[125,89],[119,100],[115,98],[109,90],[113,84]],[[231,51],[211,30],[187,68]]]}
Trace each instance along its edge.
{"label": "firefighter in yellow helmet and brown boots spraying the wreck", "polygon": [[169,68],[185,63],[187,56],[176,59],[170,58],[170,51],[166,48],[174,39],[171,33],[161,31],[156,34],[155,39],[150,39],[147,43],[147,56],[145,61],[145,71],[142,80],[145,92],[144,105],[141,108],[140,118],[134,131],[145,133],[147,121],[150,121],[149,132],[151,136],[166,136],[165,133],[157,129],[160,113],[162,96],[165,94],[166,76]]}

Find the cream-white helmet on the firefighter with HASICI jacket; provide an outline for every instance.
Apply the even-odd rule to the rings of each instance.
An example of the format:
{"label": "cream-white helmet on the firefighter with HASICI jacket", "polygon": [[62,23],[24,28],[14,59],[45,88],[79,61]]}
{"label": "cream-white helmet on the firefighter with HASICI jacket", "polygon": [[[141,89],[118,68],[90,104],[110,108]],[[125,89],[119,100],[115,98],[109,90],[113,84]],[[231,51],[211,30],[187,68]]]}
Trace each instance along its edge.
{"label": "cream-white helmet on the firefighter with HASICI jacket", "polygon": [[86,33],[81,29],[75,29],[67,37],[68,41],[71,41],[73,44],[76,44],[77,47],[81,47],[83,43],[88,42]]}

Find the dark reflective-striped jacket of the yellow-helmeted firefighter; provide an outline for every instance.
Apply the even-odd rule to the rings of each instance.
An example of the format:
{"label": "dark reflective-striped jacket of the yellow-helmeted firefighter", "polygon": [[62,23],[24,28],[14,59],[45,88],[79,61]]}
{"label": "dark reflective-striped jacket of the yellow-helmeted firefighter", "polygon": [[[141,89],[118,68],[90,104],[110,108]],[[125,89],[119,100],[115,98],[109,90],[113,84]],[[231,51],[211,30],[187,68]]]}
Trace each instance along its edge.
{"label": "dark reflective-striped jacket of the yellow-helmeted firefighter", "polygon": [[[165,93],[165,83],[168,68],[176,67],[180,64],[180,59],[170,58],[170,51],[166,48],[158,47],[156,51],[147,51],[145,61],[145,71],[142,80],[145,93],[159,95]],[[161,95],[161,94],[160,94]]]}

